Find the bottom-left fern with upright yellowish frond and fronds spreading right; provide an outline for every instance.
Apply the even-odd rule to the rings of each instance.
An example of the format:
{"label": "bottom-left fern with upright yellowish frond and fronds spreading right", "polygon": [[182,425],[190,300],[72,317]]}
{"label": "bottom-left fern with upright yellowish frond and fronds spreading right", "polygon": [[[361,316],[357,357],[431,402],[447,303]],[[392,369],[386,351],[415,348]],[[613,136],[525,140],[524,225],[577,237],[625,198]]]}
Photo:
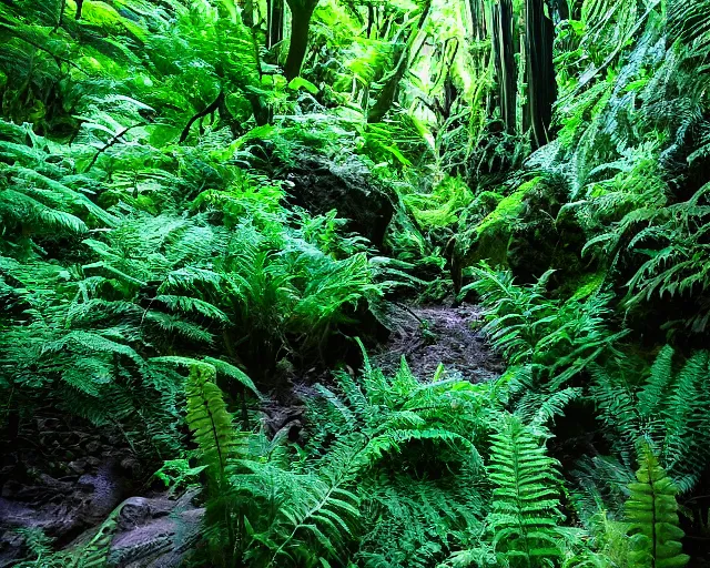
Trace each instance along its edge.
{"label": "bottom-left fern with upright yellowish frond and fronds spreading right", "polygon": [[192,363],[185,387],[186,422],[209,474],[205,535],[213,561],[273,566],[338,557],[359,516],[351,490],[362,467],[358,440],[320,457],[315,471],[292,470],[275,448],[265,459],[263,436],[233,429],[215,375],[214,366]]}

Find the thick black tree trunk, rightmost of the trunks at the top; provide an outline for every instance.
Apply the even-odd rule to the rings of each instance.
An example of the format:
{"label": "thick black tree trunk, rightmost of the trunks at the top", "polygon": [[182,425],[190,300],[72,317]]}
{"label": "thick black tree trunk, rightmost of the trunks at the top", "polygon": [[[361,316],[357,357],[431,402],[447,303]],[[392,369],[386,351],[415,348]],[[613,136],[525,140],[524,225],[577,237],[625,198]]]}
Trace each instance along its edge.
{"label": "thick black tree trunk, rightmost of the trunks at the top", "polygon": [[532,126],[532,149],[537,149],[550,141],[552,104],[557,99],[552,65],[555,26],[545,14],[545,0],[526,0],[525,20],[528,109]]}

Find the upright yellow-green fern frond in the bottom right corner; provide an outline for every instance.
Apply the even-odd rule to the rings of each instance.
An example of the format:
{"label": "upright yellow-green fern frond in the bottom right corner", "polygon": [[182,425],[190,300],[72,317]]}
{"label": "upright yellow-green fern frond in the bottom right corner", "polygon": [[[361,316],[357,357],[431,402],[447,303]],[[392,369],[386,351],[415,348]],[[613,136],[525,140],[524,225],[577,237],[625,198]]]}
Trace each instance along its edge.
{"label": "upright yellow-green fern frond in the bottom right corner", "polygon": [[636,476],[638,483],[629,485],[626,503],[629,566],[682,568],[690,558],[681,554],[683,531],[678,527],[676,488],[648,445],[641,446]]}

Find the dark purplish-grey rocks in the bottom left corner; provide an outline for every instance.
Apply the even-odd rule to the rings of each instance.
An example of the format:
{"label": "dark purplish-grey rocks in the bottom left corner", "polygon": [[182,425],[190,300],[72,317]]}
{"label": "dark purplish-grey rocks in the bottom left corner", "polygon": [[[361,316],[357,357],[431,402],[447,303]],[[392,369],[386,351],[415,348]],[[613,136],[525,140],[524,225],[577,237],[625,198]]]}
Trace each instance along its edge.
{"label": "dark purplish-grey rocks in the bottom left corner", "polygon": [[0,446],[0,568],[32,559],[19,529],[37,529],[53,539],[53,549],[70,550],[88,542],[116,507],[109,566],[180,566],[203,516],[195,491],[132,497],[145,490],[148,474],[112,430],[38,416],[20,434],[41,447]]}

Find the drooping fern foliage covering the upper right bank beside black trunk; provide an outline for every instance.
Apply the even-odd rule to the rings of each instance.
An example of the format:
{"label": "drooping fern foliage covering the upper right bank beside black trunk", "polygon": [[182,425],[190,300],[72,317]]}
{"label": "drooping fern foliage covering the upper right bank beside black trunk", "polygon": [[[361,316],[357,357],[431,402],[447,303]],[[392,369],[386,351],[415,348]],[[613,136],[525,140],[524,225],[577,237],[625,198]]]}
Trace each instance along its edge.
{"label": "drooping fern foliage covering the upper right bank beside black trunk", "polygon": [[[670,4],[666,28],[661,2],[643,11],[636,2],[585,2],[580,21],[569,22],[580,33],[560,41],[567,87],[557,109],[559,139],[530,165],[565,180],[568,202],[558,222],[575,215],[587,240],[584,253],[609,271],[627,310],[702,333],[707,180],[696,172],[707,153],[703,136],[691,132],[707,129],[703,73],[697,72],[707,30],[686,28],[701,2]],[[579,42],[579,51],[570,42]],[[589,54],[594,64],[578,67],[575,53]],[[682,310],[690,297],[699,310]],[[678,318],[659,310],[669,301]]]}

